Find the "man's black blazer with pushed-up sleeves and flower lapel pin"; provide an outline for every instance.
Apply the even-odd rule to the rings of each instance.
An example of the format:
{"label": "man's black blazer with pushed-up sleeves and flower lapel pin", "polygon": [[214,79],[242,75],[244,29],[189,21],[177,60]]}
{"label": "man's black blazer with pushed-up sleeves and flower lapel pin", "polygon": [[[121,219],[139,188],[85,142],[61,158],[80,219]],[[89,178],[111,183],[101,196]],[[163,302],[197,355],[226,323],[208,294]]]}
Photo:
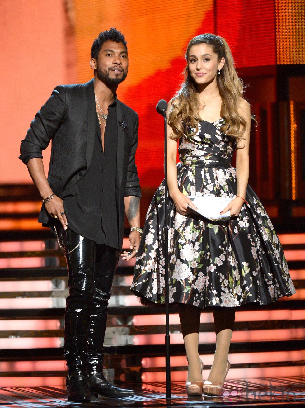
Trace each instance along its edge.
{"label": "man's black blazer with pushed-up sleeves and flower lapel pin", "polygon": [[[53,193],[63,197],[88,170],[94,145],[96,124],[93,80],[85,84],[59,85],[31,122],[22,140],[19,158],[27,164],[42,158],[42,150],[52,142],[48,181]],[[117,177],[116,199],[119,213],[119,244],[124,234],[124,197],[141,197],[135,151],[138,144],[137,113],[117,100]],[[38,222],[50,224],[44,206]]]}

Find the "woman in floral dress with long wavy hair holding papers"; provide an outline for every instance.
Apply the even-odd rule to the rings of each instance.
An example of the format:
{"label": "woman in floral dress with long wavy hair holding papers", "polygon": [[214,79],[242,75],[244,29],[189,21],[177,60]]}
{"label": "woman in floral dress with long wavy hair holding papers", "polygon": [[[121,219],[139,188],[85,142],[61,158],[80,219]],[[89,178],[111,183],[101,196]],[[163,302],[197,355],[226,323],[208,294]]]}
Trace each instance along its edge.
{"label": "woman in floral dress with long wavy hair holding papers", "polygon": [[[248,186],[250,106],[228,44],[198,35],[186,62],[186,80],[168,109],[169,298],[179,305],[188,395],[219,395],[230,368],[236,307],[268,304],[295,289],[270,219]],[[236,169],[230,164],[235,150]],[[194,215],[188,195],[229,198],[221,213],[230,211],[230,221]],[[164,303],[164,211],[162,183],[148,209],[131,286],[143,303]],[[198,339],[206,307],[213,307],[216,351],[203,384]]]}

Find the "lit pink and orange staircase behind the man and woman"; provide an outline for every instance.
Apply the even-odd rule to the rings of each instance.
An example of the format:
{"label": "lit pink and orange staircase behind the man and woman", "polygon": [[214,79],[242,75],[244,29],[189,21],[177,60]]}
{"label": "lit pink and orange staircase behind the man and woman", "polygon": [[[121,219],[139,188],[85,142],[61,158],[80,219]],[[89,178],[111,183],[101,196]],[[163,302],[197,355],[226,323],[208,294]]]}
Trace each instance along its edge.
{"label": "lit pink and orange staircase behind the man and woman", "polygon": [[[148,201],[148,199],[146,200]],[[37,223],[33,186],[0,187],[0,386],[64,385],[65,259]],[[278,231],[279,232],[279,231]],[[236,312],[228,379],[305,375],[305,233],[279,234],[296,295]],[[128,247],[128,239],[124,240]],[[119,261],[109,302],[104,365],[109,379],[165,381],[165,315],[130,293],[133,262]],[[201,313],[199,353],[208,375],[215,348],[212,313]],[[171,379],[186,378],[177,308],[170,308]]]}

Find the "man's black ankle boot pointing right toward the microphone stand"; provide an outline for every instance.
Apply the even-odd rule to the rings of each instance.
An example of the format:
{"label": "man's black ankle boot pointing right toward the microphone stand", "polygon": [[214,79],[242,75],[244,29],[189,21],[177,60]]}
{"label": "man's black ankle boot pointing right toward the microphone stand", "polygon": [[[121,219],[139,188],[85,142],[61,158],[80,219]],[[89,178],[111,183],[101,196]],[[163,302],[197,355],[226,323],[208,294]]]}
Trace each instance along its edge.
{"label": "man's black ankle boot pointing right toward the microphone stand", "polygon": [[96,396],[97,394],[103,397],[113,397],[113,398],[123,398],[135,395],[135,391],[126,390],[124,388],[118,388],[110,384],[101,372],[93,372],[87,377],[87,384],[91,396]]}

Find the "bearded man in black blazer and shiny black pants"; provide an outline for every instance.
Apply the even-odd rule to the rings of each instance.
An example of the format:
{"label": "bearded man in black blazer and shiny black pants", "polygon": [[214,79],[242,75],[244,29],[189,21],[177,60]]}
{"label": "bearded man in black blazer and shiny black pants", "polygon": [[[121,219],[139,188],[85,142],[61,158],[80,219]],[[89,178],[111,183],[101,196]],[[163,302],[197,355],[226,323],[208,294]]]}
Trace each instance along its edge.
{"label": "bearded man in black blazer and shiny black pants", "polygon": [[[128,71],[124,35],[111,28],[94,40],[94,79],[57,86],[22,140],[27,164],[42,197],[38,222],[49,226],[65,251],[69,275],[64,354],[69,401],[134,395],[102,374],[110,289],[122,250],[124,210],[131,232],[129,260],[137,253],[141,191],[135,151],[138,116],[117,100]],[[42,150],[52,141],[48,178]]]}

